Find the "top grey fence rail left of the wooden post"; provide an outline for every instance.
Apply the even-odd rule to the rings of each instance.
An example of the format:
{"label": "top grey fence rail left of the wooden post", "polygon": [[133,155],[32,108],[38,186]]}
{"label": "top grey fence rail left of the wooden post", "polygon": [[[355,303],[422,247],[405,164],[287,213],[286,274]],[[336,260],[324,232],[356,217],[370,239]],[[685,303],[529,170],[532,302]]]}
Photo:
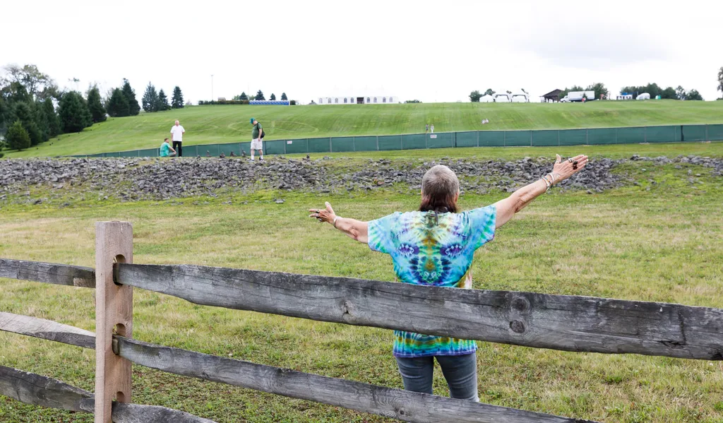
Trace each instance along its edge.
{"label": "top grey fence rail left of the wooden post", "polygon": [[95,288],[95,270],[82,266],[0,258],[0,278]]}

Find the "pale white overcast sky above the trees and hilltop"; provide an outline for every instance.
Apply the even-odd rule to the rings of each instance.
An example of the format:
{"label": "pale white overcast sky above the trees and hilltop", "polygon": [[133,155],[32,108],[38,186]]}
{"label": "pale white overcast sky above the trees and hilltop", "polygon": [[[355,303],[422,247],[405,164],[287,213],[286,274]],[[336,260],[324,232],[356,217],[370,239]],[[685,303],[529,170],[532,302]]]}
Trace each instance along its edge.
{"label": "pale white overcast sky above the trees and hilltop", "polygon": [[[117,4],[117,5],[116,5]],[[4,2],[0,65],[61,87],[130,80],[193,103],[261,89],[469,101],[471,90],[657,82],[716,92],[722,1]],[[9,19],[12,17],[12,19]],[[73,78],[78,83],[70,82]]]}

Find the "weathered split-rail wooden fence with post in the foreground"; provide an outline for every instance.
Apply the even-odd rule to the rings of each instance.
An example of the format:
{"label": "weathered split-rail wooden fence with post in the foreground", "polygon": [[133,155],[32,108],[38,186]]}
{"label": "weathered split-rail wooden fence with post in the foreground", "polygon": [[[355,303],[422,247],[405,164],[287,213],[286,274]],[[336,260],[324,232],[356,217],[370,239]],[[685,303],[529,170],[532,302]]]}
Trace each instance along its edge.
{"label": "weathered split-rail wooden fence with post in the foreground", "polygon": [[132,226],[96,223],[95,270],[0,259],[0,278],[96,289],[97,333],[0,312],[0,330],[96,350],[95,395],[0,366],[0,395],[96,423],[211,422],[131,403],[131,364],[406,422],[580,423],[159,346],[132,338],[132,288],[202,304],[563,351],[723,359],[723,309],[195,265],[132,264]]}

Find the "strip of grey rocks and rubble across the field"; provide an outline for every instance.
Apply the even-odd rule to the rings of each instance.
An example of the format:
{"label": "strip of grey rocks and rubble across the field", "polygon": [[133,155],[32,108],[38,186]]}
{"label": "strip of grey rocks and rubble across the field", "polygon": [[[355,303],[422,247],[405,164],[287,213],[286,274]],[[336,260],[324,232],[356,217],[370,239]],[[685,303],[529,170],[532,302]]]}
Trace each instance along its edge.
{"label": "strip of grey rocks and rubble across the field", "polygon": [[[723,174],[723,159],[697,156],[676,158],[633,157],[611,160],[595,158],[585,171],[560,184],[562,189],[602,192],[625,182],[612,168],[629,161],[654,164],[691,163]],[[178,197],[218,195],[223,189],[250,192],[254,189],[288,189],[311,192],[354,192],[373,189],[418,191],[424,172],[435,164],[450,166],[460,177],[463,192],[512,192],[550,170],[549,158],[517,161],[442,158],[438,161],[369,160],[346,163],[345,159],[288,160],[280,156],[265,163],[236,158],[184,159],[67,159],[0,161],[0,201],[8,196],[27,197],[41,203],[69,192],[117,197],[121,200],[169,200]],[[30,189],[48,188],[33,198]]]}

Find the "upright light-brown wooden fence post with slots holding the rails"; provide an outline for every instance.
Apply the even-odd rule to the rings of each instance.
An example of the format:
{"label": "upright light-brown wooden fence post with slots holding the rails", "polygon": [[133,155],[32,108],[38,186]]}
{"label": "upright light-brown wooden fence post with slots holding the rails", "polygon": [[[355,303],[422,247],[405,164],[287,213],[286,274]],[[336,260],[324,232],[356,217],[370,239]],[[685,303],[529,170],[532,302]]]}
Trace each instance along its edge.
{"label": "upright light-brown wooden fence post with slots holding the rails", "polygon": [[131,362],[113,352],[113,334],[132,337],[132,286],[114,283],[114,262],[133,262],[129,222],[95,223],[95,423],[111,423],[114,399],[131,402]]}

